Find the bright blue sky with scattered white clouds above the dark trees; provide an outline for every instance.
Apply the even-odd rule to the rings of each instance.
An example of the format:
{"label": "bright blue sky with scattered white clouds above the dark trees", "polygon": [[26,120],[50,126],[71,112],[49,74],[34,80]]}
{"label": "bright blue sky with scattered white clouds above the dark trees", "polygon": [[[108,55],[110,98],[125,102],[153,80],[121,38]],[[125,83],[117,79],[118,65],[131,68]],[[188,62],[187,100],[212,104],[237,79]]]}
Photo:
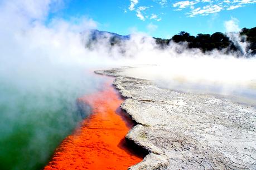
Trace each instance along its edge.
{"label": "bright blue sky with scattered white clouds above the dark trees", "polygon": [[234,18],[240,28],[255,27],[256,1],[67,0],[51,14],[65,19],[82,16],[96,21],[103,31],[171,38],[180,31],[225,32],[224,22]]}

